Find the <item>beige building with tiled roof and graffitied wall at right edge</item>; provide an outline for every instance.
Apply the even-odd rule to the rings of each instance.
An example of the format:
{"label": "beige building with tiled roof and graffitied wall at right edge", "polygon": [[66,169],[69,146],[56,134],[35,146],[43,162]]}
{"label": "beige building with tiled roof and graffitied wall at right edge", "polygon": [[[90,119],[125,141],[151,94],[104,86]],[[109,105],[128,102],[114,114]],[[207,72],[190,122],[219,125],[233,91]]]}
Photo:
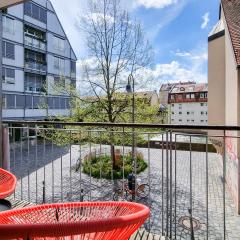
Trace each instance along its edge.
{"label": "beige building with tiled roof and graffitied wall at right edge", "polygon": [[[239,0],[221,0],[219,20],[208,37],[209,124],[240,125],[239,9]],[[240,137],[239,132],[226,131],[225,134]],[[227,138],[225,154],[223,140],[214,138],[213,142],[218,151],[226,156],[227,184],[240,213],[239,139]]]}

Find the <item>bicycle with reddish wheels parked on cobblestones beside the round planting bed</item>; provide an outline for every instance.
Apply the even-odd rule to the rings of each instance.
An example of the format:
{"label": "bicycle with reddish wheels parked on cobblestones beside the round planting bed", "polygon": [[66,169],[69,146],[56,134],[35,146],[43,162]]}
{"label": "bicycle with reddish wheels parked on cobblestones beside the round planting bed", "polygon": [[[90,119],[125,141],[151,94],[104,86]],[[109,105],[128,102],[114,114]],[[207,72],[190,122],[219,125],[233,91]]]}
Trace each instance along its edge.
{"label": "bicycle with reddish wheels parked on cobblestones beside the round planting bed", "polygon": [[115,190],[113,194],[114,201],[128,200],[128,195],[137,196],[139,198],[145,198],[149,195],[150,187],[147,183],[138,184],[139,179],[136,181],[136,191],[129,189],[128,182],[121,181],[121,188]]}

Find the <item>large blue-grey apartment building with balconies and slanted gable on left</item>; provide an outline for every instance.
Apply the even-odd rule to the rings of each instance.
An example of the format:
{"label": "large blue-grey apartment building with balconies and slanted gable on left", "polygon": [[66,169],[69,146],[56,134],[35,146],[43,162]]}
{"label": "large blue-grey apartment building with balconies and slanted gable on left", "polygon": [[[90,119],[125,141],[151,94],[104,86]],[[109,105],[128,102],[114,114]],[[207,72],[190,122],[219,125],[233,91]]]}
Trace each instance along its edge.
{"label": "large blue-grey apartment building with balconies and slanted gable on left", "polygon": [[76,55],[49,0],[3,11],[3,119],[70,114],[70,97],[55,86],[76,87]]}

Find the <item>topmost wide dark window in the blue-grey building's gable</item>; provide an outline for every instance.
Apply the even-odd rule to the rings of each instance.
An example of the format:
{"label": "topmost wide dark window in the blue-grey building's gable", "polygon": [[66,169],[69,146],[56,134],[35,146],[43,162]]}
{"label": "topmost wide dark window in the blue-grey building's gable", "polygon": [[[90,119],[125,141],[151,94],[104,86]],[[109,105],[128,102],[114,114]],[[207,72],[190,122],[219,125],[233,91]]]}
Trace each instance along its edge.
{"label": "topmost wide dark window in the blue-grey building's gable", "polygon": [[24,4],[24,14],[43,23],[47,23],[47,11],[32,2]]}

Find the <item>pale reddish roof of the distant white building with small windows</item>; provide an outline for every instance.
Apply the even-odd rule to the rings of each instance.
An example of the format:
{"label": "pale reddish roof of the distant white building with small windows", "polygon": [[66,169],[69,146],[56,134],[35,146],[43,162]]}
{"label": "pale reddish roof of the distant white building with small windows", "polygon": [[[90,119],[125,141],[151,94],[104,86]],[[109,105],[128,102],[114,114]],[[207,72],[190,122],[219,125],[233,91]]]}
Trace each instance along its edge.
{"label": "pale reddish roof of the distant white building with small windows", "polygon": [[198,84],[186,84],[186,85],[176,85],[172,88],[170,93],[194,93],[194,92],[207,92],[207,83]]}

